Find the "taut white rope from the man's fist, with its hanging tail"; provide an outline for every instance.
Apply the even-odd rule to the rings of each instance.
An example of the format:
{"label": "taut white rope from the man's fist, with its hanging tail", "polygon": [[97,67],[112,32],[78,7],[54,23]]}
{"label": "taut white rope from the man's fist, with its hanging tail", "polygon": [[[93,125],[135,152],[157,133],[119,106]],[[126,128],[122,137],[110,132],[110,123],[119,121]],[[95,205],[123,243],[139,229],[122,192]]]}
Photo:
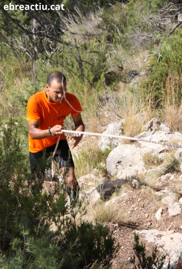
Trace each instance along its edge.
{"label": "taut white rope from the man's fist, with its hanging tail", "polygon": [[[166,142],[159,142],[159,141],[152,141],[152,140],[147,140],[143,138],[136,138],[136,137],[129,137],[129,136],[124,136],[124,135],[106,135],[106,134],[99,134],[99,133],[90,133],[90,132],[80,132],[80,131],[70,131],[70,130],[61,130],[63,133],[71,133],[71,134],[78,134],[78,135],[97,135],[97,136],[105,136],[105,137],[111,137],[111,138],[122,138],[122,139],[129,139],[129,140],[134,140],[134,141],[143,141],[143,142],[148,142],[148,143],[153,143],[153,144],[159,144],[163,146],[169,146],[169,147],[175,147],[175,148],[182,148],[182,145],[176,145],[176,144],[171,144],[171,143],[166,143]],[[57,151],[57,147],[59,144],[59,139],[60,135],[58,136],[58,140],[55,146],[55,150],[52,155],[52,177],[55,176],[56,172],[56,163],[54,160],[54,155]]]}

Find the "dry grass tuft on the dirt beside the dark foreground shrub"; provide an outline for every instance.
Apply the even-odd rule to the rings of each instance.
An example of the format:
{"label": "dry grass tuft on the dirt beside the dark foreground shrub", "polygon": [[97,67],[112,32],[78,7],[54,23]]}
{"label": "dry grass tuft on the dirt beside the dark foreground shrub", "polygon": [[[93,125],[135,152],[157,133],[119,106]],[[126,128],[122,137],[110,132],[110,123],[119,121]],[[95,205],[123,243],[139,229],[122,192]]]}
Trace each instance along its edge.
{"label": "dry grass tuft on the dirt beside the dark foreground shrub", "polygon": [[127,213],[128,211],[121,211],[115,205],[105,207],[105,203],[100,202],[88,211],[88,218],[94,223],[114,222],[124,224],[130,221]]}

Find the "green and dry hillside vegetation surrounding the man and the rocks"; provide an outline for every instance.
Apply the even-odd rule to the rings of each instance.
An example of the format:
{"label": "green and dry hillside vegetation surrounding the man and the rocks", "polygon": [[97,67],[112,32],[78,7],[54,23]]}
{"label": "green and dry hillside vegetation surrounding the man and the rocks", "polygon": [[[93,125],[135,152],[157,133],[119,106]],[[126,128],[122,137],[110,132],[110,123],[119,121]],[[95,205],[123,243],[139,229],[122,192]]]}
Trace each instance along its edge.
{"label": "green and dry hillside vegetation surrounding the man and the rocks", "polygon": [[[0,1],[2,268],[111,268],[118,251],[107,227],[85,220],[83,202],[67,205],[65,182],[50,190],[40,175],[35,195],[30,192],[26,104],[45,89],[50,72],[65,74],[67,91],[82,104],[86,131],[100,133],[108,123],[125,118],[123,135],[133,137],[157,116],[182,132],[181,2],[60,2],[65,10],[56,13],[5,11],[9,1]],[[142,120],[136,115],[143,115]],[[74,129],[70,117],[66,128]],[[94,168],[104,174],[98,164],[109,152],[88,142],[75,158],[77,177]],[[49,170],[51,160],[40,165]]]}

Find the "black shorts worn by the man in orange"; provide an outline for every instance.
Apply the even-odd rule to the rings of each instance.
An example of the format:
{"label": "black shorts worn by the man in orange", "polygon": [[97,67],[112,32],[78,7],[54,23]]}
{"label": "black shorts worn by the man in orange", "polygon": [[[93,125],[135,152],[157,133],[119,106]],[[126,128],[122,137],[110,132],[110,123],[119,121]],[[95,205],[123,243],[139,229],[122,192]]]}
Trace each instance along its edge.
{"label": "black shorts worn by the man in orange", "polygon": [[[50,156],[50,153],[54,152],[55,146],[56,144],[44,150],[47,158]],[[43,159],[44,151],[35,152],[35,153],[30,152],[30,166],[31,166],[32,173],[35,172],[36,170],[36,160]],[[54,155],[54,160],[58,163],[59,168],[74,167],[73,158],[72,158],[69,146],[67,144],[67,140],[59,141],[57,151]]]}

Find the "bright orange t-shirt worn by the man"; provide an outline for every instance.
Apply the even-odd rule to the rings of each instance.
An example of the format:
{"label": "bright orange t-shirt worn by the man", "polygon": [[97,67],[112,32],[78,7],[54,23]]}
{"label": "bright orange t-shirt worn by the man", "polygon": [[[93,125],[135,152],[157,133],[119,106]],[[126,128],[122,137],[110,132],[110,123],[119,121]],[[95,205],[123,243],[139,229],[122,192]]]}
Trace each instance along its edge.
{"label": "bright orange t-shirt worn by the man", "polygon": [[[81,104],[76,96],[66,93],[66,100],[76,111],[83,111]],[[37,121],[40,119],[39,129],[46,130],[56,124],[63,125],[63,122],[69,114],[72,116],[79,115],[63,98],[60,103],[51,103],[46,91],[41,91],[30,97],[27,103],[27,120]],[[43,139],[32,139],[29,135],[29,151],[40,152],[45,148],[52,146],[57,142],[58,136],[49,136]],[[61,135],[60,140],[66,139],[66,135]]]}

